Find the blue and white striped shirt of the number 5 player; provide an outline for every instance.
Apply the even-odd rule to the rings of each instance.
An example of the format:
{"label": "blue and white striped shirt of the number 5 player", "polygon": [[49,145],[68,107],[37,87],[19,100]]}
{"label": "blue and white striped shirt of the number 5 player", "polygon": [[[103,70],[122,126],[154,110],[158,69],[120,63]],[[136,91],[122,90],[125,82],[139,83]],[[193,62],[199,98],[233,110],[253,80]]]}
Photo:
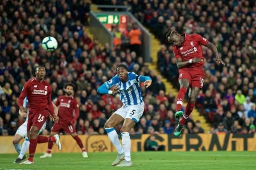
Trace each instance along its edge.
{"label": "blue and white striped shirt of the number 5 player", "polygon": [[[128,81],[121,82],[118,75],[112,77],[108,82],[105,82],[107,88],[113,85],[118,86],[120,99],[124,105],[140,105],[143,103],[142,92],[140,89],[140,81],[136,79],[138,76],[134,72],[128,72]],[[138,80],[138,81],[137,81]]]}

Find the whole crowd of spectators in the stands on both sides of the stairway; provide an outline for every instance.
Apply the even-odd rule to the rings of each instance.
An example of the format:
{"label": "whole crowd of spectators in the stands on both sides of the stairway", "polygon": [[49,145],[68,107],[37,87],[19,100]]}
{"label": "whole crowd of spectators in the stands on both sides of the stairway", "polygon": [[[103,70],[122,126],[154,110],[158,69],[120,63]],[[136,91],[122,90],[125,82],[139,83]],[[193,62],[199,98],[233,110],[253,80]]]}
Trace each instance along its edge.
{"label": "whole crowd of spectators in the stands on both sides of the stairway", "polygon": [[[167,0],[112,0],[112,3],[127,3],[134,16],[163,42],[157,54],[158,64],[163,76],[169,79],[177,79],[178,74],[172,46],[164,38],[167,30],[201,34],[214,42],[227,66],[215,64],[210,51],[204,48],[206,77],[197,107],[213,125],[209,133],[255,132],[256,68],[252,64],[256,57],[255,4],[232,0],[227,4],[222,1],[207,4],[203,0],[201,6],[190,1],[181,4]],[[143,57],[132,49],[122,51],[117,45],[113,50],[109,44],[101,47],[98,40],[88,37],[85,27],[89,11],[87,0],[1,1],[0,135],[14,135],[24,122],[17,113],[17,97],[24,83],[34,77],[38,65],[46,67],[53,101],[64,94],[65,83],[76,85],[74,97],[80,105],[77,133],[104,134],[104,123],[122,104],[118,94],[100,96],[96,89],[115,75],[116,66],[122,62],[130,71],[153,80],[148,89],[141,85],[145,112],[131,134],[173,132],[177,125],[176,99],[171,93],[165,95],[161,75],[149,70]],[[47,36],[56,37],[56,51],[47,52],[41,47],[41,40]],[[187,122],[185,133],[204,132],[199,121]],[[51,126],[48,121],[43,134],[49,134]]]}

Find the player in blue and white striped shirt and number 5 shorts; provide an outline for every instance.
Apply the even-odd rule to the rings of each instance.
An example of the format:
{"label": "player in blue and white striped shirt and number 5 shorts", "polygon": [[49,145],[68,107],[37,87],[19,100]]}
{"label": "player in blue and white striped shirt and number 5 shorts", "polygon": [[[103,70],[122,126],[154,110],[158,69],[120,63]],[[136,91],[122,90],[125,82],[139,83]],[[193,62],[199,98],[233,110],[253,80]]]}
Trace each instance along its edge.
{"label": "player in blue and white striped shirt and number 5 shorts", "polygon": [[[128,72],[126,65],[120,64],[116,68],[116,76],[105,82],[98,88],[100,94],[120,93],[120,99],[123,103],[122,108],[117,109],[115,113],[105,123],[105,130],[113,145],[116,147],[118,156],[112,165],[118,167],[132,166],[131,162],[131,139],[129,132],[135,123],[143,115],[144,102],[140,89],[140,82],[144,82],[146,88],[151,85],[151,78],[139,76],[133,72]],[[108,90],[114,86],[113,91]],[[122,145],[119,142],[118,135],[114,127],[122,124],[121,136]],[[122,161],[124,160],[124,161]],[[122,163],[120,163],[122,161]],[[120,164],[119,164],[120,163]]]}

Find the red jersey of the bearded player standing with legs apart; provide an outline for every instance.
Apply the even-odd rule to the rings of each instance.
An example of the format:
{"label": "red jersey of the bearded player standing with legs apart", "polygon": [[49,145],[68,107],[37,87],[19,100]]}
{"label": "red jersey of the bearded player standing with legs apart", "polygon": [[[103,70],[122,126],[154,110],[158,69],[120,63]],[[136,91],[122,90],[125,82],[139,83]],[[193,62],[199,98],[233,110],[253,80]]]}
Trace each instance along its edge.
{"label": "red jersey of the bearded player standing with legs apart", "polygon": [[[67,96],[59,96],[57,101],[55,102],[58,108],[58,117],[59,124],[62,125],[70,125],[76,122],[76,119],[79,116],[79,104],[76,102],[76,99],[73,97]],[[75,111],[75,116],[73,116],[73,112]]]}

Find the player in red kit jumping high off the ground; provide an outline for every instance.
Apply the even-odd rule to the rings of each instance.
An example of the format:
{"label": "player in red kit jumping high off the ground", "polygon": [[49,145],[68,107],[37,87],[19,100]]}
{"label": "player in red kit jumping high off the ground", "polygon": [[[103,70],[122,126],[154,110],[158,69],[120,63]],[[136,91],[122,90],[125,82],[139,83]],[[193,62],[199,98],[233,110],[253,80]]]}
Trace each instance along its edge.
{"label": "player in red kit jumping high off the ground", "polygon": [[[185,127],[186,119],[194,109],[195,101],[204,84],[204,57],[201,45],[210,48],[216,57],[216,62],[225,65],[218,51],[212,42],[198,34],[178,34],[177,31],[169,31],[166,34],[167,40],[173,44],[173,53],[175,55],[176,64],[179,68],[180,90],[177,95],[175,118],[179,119],[179,124],[174,130],[175,136],[180,136],[181,130]],[[187,89],[189,91],[189,99],[185,108],[185,113],[181,111],[183,100]]]}

